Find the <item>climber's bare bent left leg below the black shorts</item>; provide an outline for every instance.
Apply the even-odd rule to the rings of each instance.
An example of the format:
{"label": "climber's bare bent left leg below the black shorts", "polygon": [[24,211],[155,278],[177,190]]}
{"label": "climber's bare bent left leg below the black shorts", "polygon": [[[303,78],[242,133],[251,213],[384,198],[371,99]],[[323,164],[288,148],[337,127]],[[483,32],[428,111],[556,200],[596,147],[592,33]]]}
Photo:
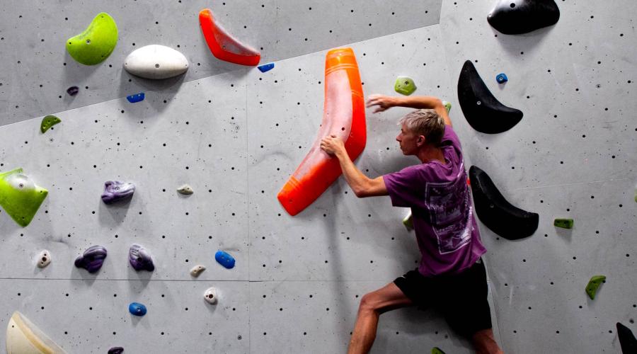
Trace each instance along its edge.
{"label": "climber's bare bent left leg below the black shorts", "polygon": [[413,304],[408,297],[394,284],[369,292],[360,299],[358,316],[350,340],[348,354],[368,353],[376,339],[376,328],[379,316],[392,309]]}

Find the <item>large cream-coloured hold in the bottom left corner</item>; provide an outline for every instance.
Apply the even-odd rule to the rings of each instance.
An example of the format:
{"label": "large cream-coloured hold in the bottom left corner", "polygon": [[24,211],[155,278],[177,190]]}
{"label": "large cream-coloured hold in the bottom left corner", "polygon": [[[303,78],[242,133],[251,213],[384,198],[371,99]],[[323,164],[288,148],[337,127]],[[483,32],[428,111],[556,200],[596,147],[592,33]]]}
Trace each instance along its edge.
{"label": "large cream-coloured hold in the bottom left corner", "polygon": [[66,354],[51,338],[20,312],[13,312],[6,326],[8,354]]}

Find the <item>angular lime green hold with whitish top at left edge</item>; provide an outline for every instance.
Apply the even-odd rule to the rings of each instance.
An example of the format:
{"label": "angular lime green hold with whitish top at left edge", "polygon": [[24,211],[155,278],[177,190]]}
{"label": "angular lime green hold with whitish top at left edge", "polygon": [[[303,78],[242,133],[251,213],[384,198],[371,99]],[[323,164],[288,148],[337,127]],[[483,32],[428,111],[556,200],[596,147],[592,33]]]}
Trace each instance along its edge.
{"label": "angular lime green hold with whitish top at left edge", "polygon": [[48,193],[25,176],[22,169],[0,173],[0,206],[21,227],[31,222]]}

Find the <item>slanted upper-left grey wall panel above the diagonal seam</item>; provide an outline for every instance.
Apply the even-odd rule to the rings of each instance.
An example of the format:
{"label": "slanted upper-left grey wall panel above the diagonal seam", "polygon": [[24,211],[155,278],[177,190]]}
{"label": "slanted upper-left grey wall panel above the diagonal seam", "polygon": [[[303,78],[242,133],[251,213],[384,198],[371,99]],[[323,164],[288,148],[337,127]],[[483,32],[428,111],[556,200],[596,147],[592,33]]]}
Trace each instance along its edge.
{"label": "slanted upper-left grey wall panel above the diagonal seam", "polygon": [[[175,93],[175,81],[238,69],[212,56],[200,30],[202,8],[211,8],[229,33],[260,50],[265,64],[438,23],[441,2],[7,1],[0,12],[0,125],[144,90]],[[86,67],[67,54],[64,41],[81,33],[101,11],[113,16],[120,37],[105,62]],[[188,73],[162,83],[127,74],[122,69],[125,57],[151,44],[182,52],[190,62]],[[80,88],[75,97],[65,92],[73,85]]]}

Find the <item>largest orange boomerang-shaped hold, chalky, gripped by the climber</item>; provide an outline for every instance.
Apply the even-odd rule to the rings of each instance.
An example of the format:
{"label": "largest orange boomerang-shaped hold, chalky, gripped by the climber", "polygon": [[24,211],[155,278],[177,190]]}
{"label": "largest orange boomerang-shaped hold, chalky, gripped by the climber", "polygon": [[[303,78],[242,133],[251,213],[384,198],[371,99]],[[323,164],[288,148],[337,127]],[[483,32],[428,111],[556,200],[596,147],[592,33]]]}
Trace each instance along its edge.
{"label": "largest orange boomerang-shaped hold, chalky, gripped by the climber", "polygon": [[350,159],[365,149],[365,99],[356,57],[351,48],[330,50],[325,59],[325,103],[319,135],[277,198],[289,215],[297,215],[340,176],[338,159],[321,150],[323,137],[337,135]]}

